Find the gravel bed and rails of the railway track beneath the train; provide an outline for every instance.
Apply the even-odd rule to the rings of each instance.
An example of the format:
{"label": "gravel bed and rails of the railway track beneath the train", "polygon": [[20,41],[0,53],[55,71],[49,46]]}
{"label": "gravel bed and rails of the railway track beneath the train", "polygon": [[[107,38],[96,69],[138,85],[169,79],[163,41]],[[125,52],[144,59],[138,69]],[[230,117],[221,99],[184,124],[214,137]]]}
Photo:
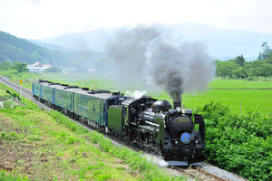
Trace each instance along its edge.
{"label": "gravel bed and rails of the railway track beneath the train", "polygon": [[[16,85],[15,83],[11,81],[7,81],[4,77],[0,76],[0,81],[5,83],[5,85],[11,87],[13,90],[20,92],[21,86]],[[28,90],[24,87],[22,87],[22,96],[34,101],[41,109],[43,110],[51,110],[41,102],[34,99],[32,90]],[[77,124],[82,125],[84,128],[89,129],[90,131],[93,131],[94,128],[90,128],[89,125],[84,124],[80,120],[74,120]],[[104,133],[103,133],[104,134]],[[104,134],[106,137],[109,137],[112,139],[113,143],[115,145],[124,147],[125,144],[121,142],[117,138],[113,138],[112,136]],[[129,147],[131,149],[134,149],[136,151],[139,151],[138,148]],[[236,176],[234,174],[228,173],[227,171],[221,170],[217,167],[210,166],[209,164],[204,164],[204,167],[170,167],[166,162],[161,159],[160,157],[154,157],[151,154],[144,154],[144,157],[147,157],[148,159],[152,159],[153,163],[158,164],[160,167],[165,167],[166,169],[169,169],[170,172],[173,172],[175,175],[186,175],[190,179],[196,179],[196,180],[246,180],[242,177]],[[156,159],[156,160],[155,160]],[[218,169],[219,171],[214,171],[215,169]],[[208,171],[213,170],[213,171]],[[221,171],[220,171],[221,170]],[[224,172],[224,174],[222,174]],[[227,173],[227,174],[226,174]],[[228,176],[227,176],[228,175]]]}

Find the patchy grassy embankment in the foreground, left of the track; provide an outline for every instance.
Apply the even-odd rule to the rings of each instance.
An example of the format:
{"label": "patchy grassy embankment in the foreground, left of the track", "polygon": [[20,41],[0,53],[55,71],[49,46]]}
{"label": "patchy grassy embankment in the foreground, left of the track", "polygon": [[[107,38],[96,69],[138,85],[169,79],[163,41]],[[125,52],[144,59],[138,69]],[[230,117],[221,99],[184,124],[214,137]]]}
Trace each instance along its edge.
{"label": "patchy grassy embankment in the foreground, left of the track", "polygon": [[[5,95],[0,84],[0,96]],[[12,91],[12,90],[11,90]],[[0,180],[184,180],[33,102],[0,110]]]}

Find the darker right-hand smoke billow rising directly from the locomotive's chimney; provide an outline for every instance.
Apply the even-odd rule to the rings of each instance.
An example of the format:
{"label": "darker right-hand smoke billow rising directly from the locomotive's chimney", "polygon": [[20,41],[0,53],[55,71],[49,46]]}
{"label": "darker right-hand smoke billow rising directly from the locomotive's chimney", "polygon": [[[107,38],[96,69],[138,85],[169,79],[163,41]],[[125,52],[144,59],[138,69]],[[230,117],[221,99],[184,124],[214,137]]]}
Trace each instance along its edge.
{"label": "darker right-hand smoke billow rising directly from the locomotive's chimney", "polygon": [[145,77],[181,101],[184,91],[205,89],[213,77],[213,66],[201,43],[179,46],[165,36],[157,37],[147,48]]}

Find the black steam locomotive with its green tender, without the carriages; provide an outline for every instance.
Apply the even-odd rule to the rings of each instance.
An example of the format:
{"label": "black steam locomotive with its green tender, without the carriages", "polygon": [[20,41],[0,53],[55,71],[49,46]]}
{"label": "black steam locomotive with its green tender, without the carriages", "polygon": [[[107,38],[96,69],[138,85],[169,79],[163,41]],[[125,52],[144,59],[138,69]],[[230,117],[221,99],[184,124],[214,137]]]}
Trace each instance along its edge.
{"label": "black steam locomotive with its green tender, without the carriages", "polygon": [[180,102],[171,108],[167,100],[146,96],[124,100],[109,109],[109,129],[129,144],[161,153],[172,166],[200,165],[205,149],[203,118],[181,109]]}

